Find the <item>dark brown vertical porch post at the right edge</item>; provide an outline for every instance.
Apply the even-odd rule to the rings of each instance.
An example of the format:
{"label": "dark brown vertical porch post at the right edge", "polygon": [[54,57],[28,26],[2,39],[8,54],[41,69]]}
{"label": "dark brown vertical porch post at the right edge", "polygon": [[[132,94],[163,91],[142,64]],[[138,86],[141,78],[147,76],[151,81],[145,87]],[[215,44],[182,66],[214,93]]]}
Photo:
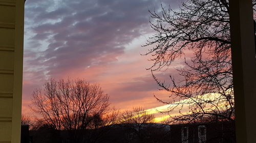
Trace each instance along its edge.
{"label": "dark brown vertical porch post at the right edge", "polygon": [[256,142],[255,45],[251,0],[230,0],[236,136],[238,143]]}

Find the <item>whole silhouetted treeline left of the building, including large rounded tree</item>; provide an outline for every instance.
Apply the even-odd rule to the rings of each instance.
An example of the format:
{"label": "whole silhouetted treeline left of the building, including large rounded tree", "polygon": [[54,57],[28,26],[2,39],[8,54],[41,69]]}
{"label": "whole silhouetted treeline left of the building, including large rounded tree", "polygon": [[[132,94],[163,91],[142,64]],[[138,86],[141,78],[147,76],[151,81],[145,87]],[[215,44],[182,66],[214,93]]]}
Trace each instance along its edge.
{"label": "whole silhouetted treeline left of the building, including large rounded tree", "polygon": [[23,116],[22,123],[31,124],[33,142],[155,142],[166,133],[142,107],[111,108],[99,84],[84,79],[52,78],[32,95],[31,109],[39,116],[34,123]]}

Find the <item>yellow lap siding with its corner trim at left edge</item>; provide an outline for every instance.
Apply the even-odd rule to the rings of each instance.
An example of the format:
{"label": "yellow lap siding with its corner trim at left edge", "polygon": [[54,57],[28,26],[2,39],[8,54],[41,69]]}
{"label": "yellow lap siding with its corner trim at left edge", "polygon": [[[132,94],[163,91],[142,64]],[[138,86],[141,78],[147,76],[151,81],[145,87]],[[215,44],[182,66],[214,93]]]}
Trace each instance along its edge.
{"label": "yellow lap siding with its corner trim at left edge", "polygon": [[0,142],[20,142],[24,0],[0,0]]}

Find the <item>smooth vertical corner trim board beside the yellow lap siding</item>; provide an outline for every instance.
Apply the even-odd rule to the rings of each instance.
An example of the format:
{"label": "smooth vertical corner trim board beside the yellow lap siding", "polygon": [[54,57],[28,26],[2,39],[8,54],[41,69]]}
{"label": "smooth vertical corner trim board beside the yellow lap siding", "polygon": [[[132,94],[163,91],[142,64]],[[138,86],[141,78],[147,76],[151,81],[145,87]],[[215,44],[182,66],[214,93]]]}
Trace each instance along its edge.
{"label": "smooth vertical corner trim board beside the yellow lap siding", "polygon": [[24,40],[24,4],[16,0],[15,7],[15,46],[13,70],[12,101],[12,143],[20,142],[20,124],[22,115],[22,77],[23,77],[23,40]]}

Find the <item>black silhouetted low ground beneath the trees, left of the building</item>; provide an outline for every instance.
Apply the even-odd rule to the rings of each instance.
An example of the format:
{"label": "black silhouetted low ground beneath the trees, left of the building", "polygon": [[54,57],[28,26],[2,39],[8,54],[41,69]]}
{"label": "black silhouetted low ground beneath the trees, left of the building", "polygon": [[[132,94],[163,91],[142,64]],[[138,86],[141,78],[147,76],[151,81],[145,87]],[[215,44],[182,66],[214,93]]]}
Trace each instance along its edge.
{"label": "black silhouetted low ground beneath the trees, left of the building", "polygon": [[37,130],[30,130],[32,142],[75,142],[70,132],[77,132],[77,143],[80,142],[169,142],[169,130],[164,124],[147,123],[136,130],[135,124],[113,124],[98,129],[87,130],[56,130],[44,124]]}

